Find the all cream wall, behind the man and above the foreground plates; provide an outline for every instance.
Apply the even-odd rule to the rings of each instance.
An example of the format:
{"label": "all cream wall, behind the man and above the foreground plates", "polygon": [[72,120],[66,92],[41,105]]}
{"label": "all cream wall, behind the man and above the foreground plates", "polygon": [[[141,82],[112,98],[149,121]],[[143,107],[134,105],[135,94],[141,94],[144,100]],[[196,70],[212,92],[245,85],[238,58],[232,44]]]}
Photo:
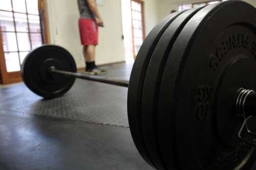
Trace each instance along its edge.
{"label": "all cream wall, behind the man and above the foreground plates", "polygon": [[[245,0],[256,7],[255,0]],[[98,6],[105,27],[99,28],[99,45],[96,63],[106,64],[125,60],[122,36],[122,15],[120,0],[103,0]],[[205,2],[205,0],[144,0],[144,21],[146,35],[171,10],[179,4]],[[84,67],[82,46],[78,31],[77,0],[47,0],[50,43],[67,48],[74,56],[77,67]]]}

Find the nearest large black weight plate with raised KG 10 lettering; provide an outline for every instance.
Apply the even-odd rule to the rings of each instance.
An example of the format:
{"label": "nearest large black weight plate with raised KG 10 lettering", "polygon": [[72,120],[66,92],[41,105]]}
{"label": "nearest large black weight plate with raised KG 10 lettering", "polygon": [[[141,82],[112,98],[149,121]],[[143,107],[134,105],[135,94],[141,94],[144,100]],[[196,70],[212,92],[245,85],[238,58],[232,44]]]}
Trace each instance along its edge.
{"label": "nearest large black weight plate with raised KG 10 lettering", "polygon": [[237,140],[242,120],[233,110],[240,87],[256,89],[255,14],[241,1],[207,6],[187,22],[169,54],[158,130],[161,141],[175,137],[179,169],[250,169],[255,160],[254,148]]}

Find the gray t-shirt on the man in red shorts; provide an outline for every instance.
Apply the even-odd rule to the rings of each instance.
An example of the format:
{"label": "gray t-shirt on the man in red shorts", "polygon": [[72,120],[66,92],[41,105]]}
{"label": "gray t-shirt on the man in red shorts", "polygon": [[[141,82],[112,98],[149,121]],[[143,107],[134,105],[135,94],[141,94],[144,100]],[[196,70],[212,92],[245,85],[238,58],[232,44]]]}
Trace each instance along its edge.
{"label": "gray t-shirt on the man in red shorts", "polygon": [[[94,0],[96,3],[96,0]],[[77,0],[79,13],[81,18],[94,19],[95,16],[90,10],[87,0]]]}

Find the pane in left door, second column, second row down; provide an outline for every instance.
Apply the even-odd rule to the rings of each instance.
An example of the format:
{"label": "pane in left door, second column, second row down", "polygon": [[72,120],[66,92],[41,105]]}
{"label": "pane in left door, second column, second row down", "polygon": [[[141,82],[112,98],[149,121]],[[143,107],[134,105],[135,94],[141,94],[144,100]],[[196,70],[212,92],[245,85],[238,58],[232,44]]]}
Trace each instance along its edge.
{"label": "pane in left door, second column, second row down", "polygon": [[26,14],[14,13],[16,31],[28,32],[28,19]]}

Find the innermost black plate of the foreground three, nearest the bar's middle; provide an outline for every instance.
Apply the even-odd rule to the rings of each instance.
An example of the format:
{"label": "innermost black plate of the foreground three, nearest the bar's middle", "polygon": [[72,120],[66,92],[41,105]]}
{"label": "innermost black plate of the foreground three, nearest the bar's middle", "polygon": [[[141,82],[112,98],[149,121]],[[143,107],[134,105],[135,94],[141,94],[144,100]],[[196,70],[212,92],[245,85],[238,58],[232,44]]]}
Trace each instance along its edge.
{"label": "innermost black plate of the foreground three, nearest the bar's middle", "polygon": [[147,65],[150,62],[151,55],[155,46],[163,34],[164,30],[180,14],[176,12],[166,16],[153,30],[147,35],[145,41],[140,47],[137,58],[134,62],[131,72],[128,96],[127,112],[129,118],[130,131],[133,141],[142,158],[151,166],[155,167],[145,148],[142,125],[141,125],[141,98],[144,77]]}

